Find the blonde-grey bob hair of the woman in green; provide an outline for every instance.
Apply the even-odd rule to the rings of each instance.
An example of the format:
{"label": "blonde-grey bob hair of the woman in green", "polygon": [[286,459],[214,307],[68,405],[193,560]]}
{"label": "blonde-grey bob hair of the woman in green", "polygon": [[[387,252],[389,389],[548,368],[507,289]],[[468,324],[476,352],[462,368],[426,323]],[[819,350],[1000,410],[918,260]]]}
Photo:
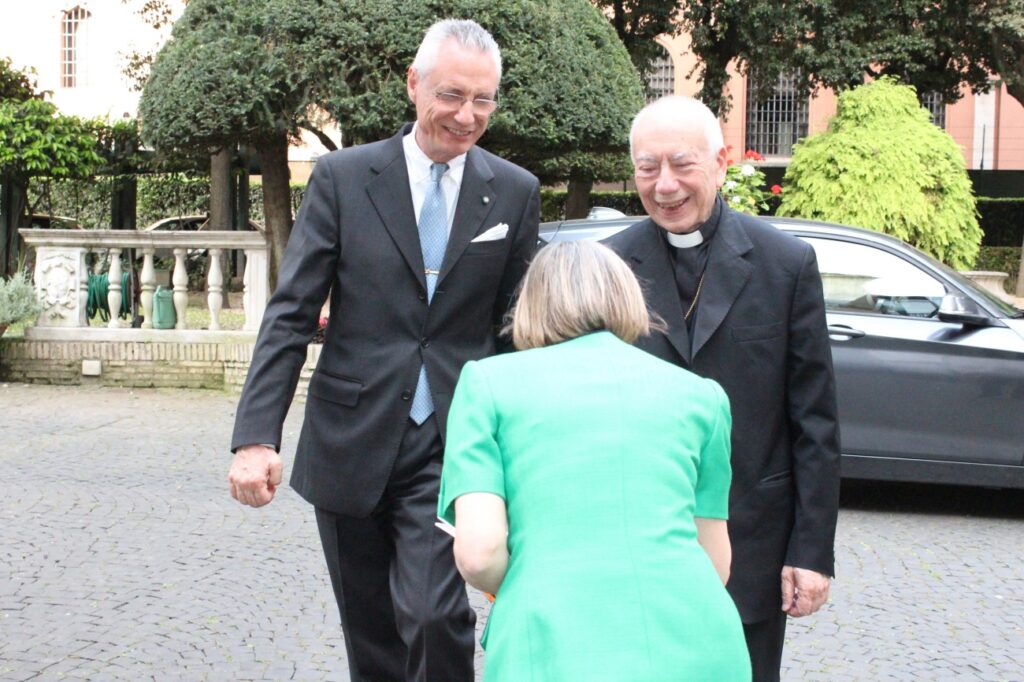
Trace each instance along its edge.
{"label": "blonde-grey bob hair of the woman in green", "polygon": [[541,249],[511,315],[506,330],[520,350],[601,330],[633,343],[656,324],[629,265],[608,247],[582,241]]}

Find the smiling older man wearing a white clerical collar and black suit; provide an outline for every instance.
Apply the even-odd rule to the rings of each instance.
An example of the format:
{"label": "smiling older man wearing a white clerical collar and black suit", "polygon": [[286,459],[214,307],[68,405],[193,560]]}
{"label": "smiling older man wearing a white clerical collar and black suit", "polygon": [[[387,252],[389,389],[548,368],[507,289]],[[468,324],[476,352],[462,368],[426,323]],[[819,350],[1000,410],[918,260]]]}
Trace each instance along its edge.
{"label": "smiling older man wearing a white clerical collar and black suit", "polygon": [[727,587],[754,679],[777,680],[786,614],[816,611],[834,571],[839,433],[814,251],[725,205],[722,131],[700,102],[649,104],[630,144],[648,219],[608,245],[667,325],[640,347],[715,379],[729,396]]}

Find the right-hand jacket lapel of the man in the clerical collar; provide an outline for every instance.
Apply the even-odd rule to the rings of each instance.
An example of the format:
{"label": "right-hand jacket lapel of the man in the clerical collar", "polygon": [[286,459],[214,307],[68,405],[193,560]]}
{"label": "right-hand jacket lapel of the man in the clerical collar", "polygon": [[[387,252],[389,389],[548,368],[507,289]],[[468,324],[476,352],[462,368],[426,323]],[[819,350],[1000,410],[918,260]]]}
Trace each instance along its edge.
{"label": "right-hand jacket lapel of the man in the clerical collar", "polygon": [[694,357],[721,326],[751,279],[754,266],[744,256],[752,248],[751,240],[735,214],[728,208],[723,209],[718,230],[711,241],[697,318],[693,323]]}

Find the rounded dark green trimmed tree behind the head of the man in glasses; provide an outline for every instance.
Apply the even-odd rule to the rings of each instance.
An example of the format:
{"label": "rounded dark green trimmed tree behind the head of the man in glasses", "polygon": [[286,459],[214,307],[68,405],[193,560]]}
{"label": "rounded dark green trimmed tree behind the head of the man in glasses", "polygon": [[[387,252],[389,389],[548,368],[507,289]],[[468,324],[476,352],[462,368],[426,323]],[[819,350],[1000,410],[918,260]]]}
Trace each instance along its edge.
{"label": "rounded dark green trimmed tree behind the head of the man in glasses", "polygon": [[586,0],[336,0],[306,60],[323,74],[325,109],[352,142],[394,134],[416,113],[406,73],[426,29],[471,16],[502,46],[499,100],[481,145],[536,173],[568,181],[585,206],[595,180],[629,176],[630,121],[643,87],[629,53]]}

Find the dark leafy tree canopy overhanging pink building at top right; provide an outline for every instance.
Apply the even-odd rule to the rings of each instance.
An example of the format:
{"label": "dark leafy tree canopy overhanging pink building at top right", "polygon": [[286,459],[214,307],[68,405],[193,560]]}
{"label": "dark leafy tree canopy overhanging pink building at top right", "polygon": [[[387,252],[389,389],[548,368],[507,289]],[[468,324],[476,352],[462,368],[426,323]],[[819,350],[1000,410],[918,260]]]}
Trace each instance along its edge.
{"label": "dark leafy tree canopy overhanging pink building at top right", "polygon": [[698,59],[699,97],[715,111],[729,109],[730,63],[755,77],[760,94],[768,93],[780,70],[796,69],[803,92],[842,91],[865,78],[895,76],[919,93],[940,93],[946,102],[959,99],[964,87],[988,90],[993,72],[1017,73],[1018,82],[1024,81],[1024,0],[692,0],[683,5],[680,26],[690,34]]}

